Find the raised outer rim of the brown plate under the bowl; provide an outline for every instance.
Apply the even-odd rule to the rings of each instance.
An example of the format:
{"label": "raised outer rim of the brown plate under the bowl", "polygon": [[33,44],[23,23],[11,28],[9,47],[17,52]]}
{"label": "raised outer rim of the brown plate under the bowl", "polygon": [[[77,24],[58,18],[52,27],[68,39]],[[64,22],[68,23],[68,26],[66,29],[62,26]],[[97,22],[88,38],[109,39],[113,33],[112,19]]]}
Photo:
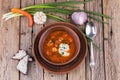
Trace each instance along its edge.
{"label": "raised outer rim of the brown plate under the bowl", "polygon": [[[58,23],[58,24],[67,24],[67,25],[70,25],[70,26],[75,26],[75,25],[73,25],[73,24],[65,23],[65,22],[55,22],[55,23]],[[52,24],[54,24],[54,23],[52,23]],[[49,24],[49,25],[51,25],[51,24]],[[58,71],[58,72],[57,72],[57,71],[53,71],[53,70],[49,69],[48,67],[46,67],[46,65],[45,65],[46,63],[43,63],[43,62],[39,61],[38,56],[36,56],[36,52],[35,52],[35,48],[34,48],[34,46],[35,46],[35,41],[36,41],[36,39],[37,39],[37,37],[38,37],[38,34],[40,34],[40,32],[41,32],[41,30],[40,30],[40,31],[37,33],[37,35],[35,35],[34,41],[33,41],[33,45],[32,45],[32,54],[33,54],[33,56],[34,56],[34,58],[35,58],[35,61],[38,63],[38,65],[41,66],[43,69],[46,69],[46,70],[48,70],[48,71],[50,71],[50,72],[52,72],[52,73],[55,73],[55,74],[56,74],[56,73],[57,73],[57,74],[65,74],[65,73],[68,73],[68,72],[76,69],[76,68],[78,67],[78,65],[80,65],[80,64],[85,60],[85,57],[87,56],[87,52],[88,52],[87,40],[86,40],[83,32],[82,32],[79,28],[77,28],[77,27],[76,27],[76,30],[78,30],[79,33],[82,35],[82,37],[83,37],[83,39],[84,39],[84,43],[85,43],[85,48],[86,48],[85,51],[84,51],[84,55],[83,55],[81,61],[79,61],[79,62],[76,61],[74,67],[72,67],[70,70],[67,70],[67,71]],[[79,59],[78,59],[78,60],[79,60]],[[71,67],[71,66],[69,66],[69,67]]]}

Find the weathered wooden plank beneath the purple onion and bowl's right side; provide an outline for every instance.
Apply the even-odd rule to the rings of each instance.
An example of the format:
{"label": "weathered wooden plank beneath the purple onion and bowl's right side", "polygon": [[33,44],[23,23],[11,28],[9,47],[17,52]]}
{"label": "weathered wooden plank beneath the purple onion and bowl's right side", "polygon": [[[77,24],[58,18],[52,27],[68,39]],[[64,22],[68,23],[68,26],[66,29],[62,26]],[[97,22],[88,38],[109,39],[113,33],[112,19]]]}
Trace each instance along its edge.
{"label": "weathered wooden plank beneath the purple onion and bowl's right side", "polygon": [[[76,1],[84,1],[84,0],[76,0]],[[78,4],[76,6],[79,7],[77,10],[84,9],[84,4]],[[85,80],[85,60],[75,70],[68,73],[68,80]]]}

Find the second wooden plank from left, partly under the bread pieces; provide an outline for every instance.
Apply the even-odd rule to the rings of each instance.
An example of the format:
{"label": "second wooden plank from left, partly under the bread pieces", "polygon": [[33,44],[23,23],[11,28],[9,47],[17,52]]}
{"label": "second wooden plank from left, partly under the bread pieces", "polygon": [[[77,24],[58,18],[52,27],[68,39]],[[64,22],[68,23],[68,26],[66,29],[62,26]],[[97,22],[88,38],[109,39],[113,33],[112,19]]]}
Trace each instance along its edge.
{"label": "second wooden plank from left, partly under the bread pieces", "polygon": [[[34,3],[38,4],[38,3],[42,3],[42,1],[30,0],[29,3],[28,1],[23,1],[21,5],[22,7],[25,7],[25,6],[34,5]],[[26,21],[27,21],[26,18],[21,19],[21,49],[25,49],[30,55],[32,55],[31,54],[32,42],[38,30],[40,30],[40,26],[35,25],[33,26],[33,30],[32,30],[32,28],[28,27],[28,21],[27,22]],[[43,80],[43,70],[42,68],[39,67],[39,65],[36,64],[36,62],[32,62],[28,65],[28,75],[21,74],[20,79]]]}

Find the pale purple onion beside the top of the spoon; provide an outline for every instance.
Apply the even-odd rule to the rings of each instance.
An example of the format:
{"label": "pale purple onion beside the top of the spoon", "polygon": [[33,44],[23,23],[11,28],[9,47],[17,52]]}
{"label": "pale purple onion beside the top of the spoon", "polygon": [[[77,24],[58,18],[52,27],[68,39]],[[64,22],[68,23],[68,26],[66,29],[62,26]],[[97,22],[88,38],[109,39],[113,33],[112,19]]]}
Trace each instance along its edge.
{"label": "pale purple onion beside the top of the spoon", "polygon": [[87,13],[85,12],[74,12],[71,17],[73,22],[78,25],[84,24],[88,19]]}

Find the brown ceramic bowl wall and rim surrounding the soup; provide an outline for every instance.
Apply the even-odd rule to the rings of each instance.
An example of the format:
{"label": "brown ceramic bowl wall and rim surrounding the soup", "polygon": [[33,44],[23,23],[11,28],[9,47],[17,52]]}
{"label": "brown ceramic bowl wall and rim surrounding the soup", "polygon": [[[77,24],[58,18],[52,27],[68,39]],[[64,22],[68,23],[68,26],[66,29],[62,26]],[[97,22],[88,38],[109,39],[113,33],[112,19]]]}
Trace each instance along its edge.
{"label": "brown ceramic bowl wall and rim surrounding the soup", "polygon": [[[41,35],[41,38],[39,40],[39,46],[38,46],[39,47],[39,53],[40,53],[41,57],[45,61],[47,61],[48,63],[53,64],[53,65],[65,65],[65,64],[68,64],[71,61],[73,61],[77,57],[77,55],[79,54],[79,51],[80,51],[80,39],[79,39],[78,35],[76,34],[76,32],[74,30],[72,30],[71,27],[64,26],[64,25],[59,25],[57,23],[52,24],[52,25],[48,25],[48,26],[46,26],[45,29],[46,30]],[[67,32],[70,36],[72,36],[72,38],[73,38],[73,40],[75,42],[74,55],[69,60],[67,60],[66,62],[63,62],[63,63],[52,62],[49,59],[47,59],[47,57],[46,57],[46,55],[44,53],[44,50],[43,50],[44,41],[46,40],[48,35],[51,32],[54,32],[54,31],[65,31],[65,32]]]}

